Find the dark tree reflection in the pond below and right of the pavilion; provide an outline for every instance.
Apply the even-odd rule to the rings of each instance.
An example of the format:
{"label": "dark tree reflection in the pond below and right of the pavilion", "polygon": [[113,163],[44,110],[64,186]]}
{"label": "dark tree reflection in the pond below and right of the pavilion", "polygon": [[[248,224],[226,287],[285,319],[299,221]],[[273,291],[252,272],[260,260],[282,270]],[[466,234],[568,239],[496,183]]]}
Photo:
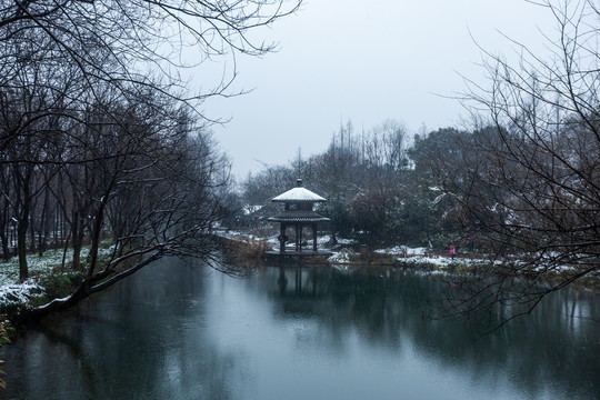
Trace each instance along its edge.
{"label": "dark tree reflection in the pond below and right of the pavilion", "polygon": [[[266,273],[264,290],[276,314],[316,319],[331,338],[326,346],[343,346],[343,338],[356,331],[388,349],[412,343],[444,368],[470,371],[473,381],[507,379],[531,397],[540,396],[548,382],[566,388],[572,398],[600,393],[600,327],[590,320],[600,310],[596,298],[582,292],[553,293],[528,319],[480,334],[474,323],[432,318],[431,304],[454,290],[447,277],[393,268],[347,274],[281,268]],[[282,276],[284,290],[276,282]],[[507,371],[514,373],[507,377]]]}

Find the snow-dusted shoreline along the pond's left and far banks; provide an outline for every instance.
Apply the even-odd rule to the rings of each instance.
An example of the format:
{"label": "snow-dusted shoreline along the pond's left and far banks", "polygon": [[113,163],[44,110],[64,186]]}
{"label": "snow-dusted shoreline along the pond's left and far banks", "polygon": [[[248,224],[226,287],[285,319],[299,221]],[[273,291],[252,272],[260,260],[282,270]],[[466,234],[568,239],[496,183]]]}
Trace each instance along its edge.
{"label": "snow-dusted shoreline along the pond's left and far banks", "polygon": [[[222,232],[223,233],[223,232]],[[232,263],[240,263],[248,269],[257,268],[264,264],[264,256],[272,248],[271,241],[266,238],[258,238],[251,234],[233,232],[233,234],[217,234],[222,240],[223,254],[226,260]],[[322,243],[324,244],[324,243]],[[356,249],[359,249],[357,252]],[[472,274],[492,276],[497,271],[492,269],[501,267],[502,263],[494,260],[492,257],[477,252],[459,252],[453,257],[446,254],[443,251],[432,251],[427,248],[409,248],[406,246],[396,246],[392,248],[376,249],[366,251],[363,247],[357,243],[346,243],[338,246],[334,249],[326,249],[322,247],[323,254],[319,262],[314,264],[329,264],[337,269],[350,270],[351,267],[388,267],[411,269],[416,271],[449,273],[449,274]],[[58,253],[58,254],[57,254]],[[273,252],[276,253],[276,252]],[[321,254],[321,256],[323,256]],[[329,256],[331,254],[331,256]],[[18,271],[17,258],[11,261],[0,262],[0,318],[3,320],[18,321],[21,311],[34,308],[41,302],[52,301],[53,298],[63,297],[69,290],[67,284],[71,278],[76,277],[80,271],[72,271],[68,268],[57,269],[56,258],[62,257],[62,250],[49,250],[47,256],[40,258],[31,256],[32,273],[24,282],[18,283],[16,272]],[[310,253],[307,252],[307,260],[310,259]],[[293,257],[293,256],[292,256]],[[226,261],[226,262],[227,262]],[[283,264],[293,266],[296,262],[278,260]],[[514,260],[511,263],[518,263]],[[308,266],[308,264],[307,264]],[[347,266],[347,268],[343,268]],[[340,268],[341,267],[341,268]],[[489,271],[487,271],[489,269]],[[552,280],[558,280],[564,273],[569,273],[569,267],[562,269],[546,271],[546,284],[550,284]],[[73,278],[74,279],[74,278]],[[528,279],[523,274],[521,279]],[[64,284],[61,288],[56,288],[52,284]],[[573,288],[584,289],[588,292],[600,294],[600,277],[588,276],[571,282],[569,286]],[[58,292],[56,290],[59,290]],[[62,291],[61,291],[62,290]]]}

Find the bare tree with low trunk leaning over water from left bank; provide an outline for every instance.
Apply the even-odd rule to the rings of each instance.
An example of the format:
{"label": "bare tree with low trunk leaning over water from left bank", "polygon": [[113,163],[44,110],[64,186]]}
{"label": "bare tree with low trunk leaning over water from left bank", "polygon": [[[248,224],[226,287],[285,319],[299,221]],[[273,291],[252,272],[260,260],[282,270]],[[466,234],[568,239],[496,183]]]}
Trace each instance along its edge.
{"label": "bare tree with low trunk leaning over water from left bank", "polygon": [[[217,171],[227,168],[227,159],[190,111],[171,109],[168,120],[164,113],[152,112],[156,102],[168,102],[167,98],[113,101],[110,107],[116,110],[104,114],[106,120],[97,116],[96,129],[84,137],[87,152],[78,153],[86,161],[67,166],[80,171],[67,173],[72,191],[87,202],[90,250],[81,263],[81,280],[70,296],[23,312],[24,319],[68,308],[164,256],[212,260],[213,268],[234,272],[217,262],[218,241],[212,234],[221,218],[220,189],[228,184]],[[90,152],[97,156],[93,161]],[[113,238],[112,250],[101,254],[107,236]]]}

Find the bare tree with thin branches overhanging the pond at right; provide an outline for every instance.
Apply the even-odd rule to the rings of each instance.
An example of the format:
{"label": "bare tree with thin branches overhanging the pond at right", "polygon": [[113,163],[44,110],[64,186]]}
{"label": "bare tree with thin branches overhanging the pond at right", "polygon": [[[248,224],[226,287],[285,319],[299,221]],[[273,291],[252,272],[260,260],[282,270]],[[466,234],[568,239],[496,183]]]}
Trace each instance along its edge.
{"label": "bare tree with thin branches overhanging the pond at right", "polygon": [[504,256],[454,304],[503,321],[600,266],[600,13],[588,0],[542,6],[557,22],[550,57],[488,54],[490,87],[471,82],[466,98],[492,126],[469,143],[479,156],[460,166],[466,181],[444,187]]}

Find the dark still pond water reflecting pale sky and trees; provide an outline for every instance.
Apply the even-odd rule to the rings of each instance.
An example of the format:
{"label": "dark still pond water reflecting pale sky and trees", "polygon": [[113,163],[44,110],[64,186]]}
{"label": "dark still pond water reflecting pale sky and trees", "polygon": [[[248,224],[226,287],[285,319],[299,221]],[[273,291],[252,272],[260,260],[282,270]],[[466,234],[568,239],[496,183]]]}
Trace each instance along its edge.
{"label": "dark still pond water reflecting pale sky and trees", "polygon": [[428,318],[443,280],[166,260],[2,348],[0,398],[600,399],[597,298],[480,336]]}

